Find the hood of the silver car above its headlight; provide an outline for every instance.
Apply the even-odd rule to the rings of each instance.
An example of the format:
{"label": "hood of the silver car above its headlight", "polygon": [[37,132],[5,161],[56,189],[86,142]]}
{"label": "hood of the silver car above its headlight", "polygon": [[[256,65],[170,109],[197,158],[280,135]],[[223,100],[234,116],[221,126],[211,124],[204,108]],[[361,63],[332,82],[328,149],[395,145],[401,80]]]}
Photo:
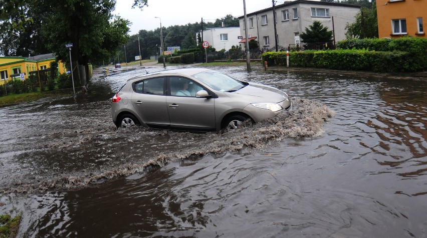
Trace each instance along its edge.
{"label": "hood of the silver car above its headlight", "polygon": [[287,99],[287,95],[282,91],[269,87],[267,85],[250,83],[248,86],[239,89],[236,92],[227,93],[229,97],[245,97],[246,100],[253,102],[282,102]]}

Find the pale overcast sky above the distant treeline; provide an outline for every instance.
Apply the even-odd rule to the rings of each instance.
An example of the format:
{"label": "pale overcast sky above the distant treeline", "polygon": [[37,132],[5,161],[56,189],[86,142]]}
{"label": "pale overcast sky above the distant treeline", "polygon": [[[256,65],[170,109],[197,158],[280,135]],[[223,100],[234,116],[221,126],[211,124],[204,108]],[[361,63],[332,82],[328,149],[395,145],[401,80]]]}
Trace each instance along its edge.
{"label": "pale overcast sky above the distant treeline", "polygon": [[[129,35],[138,34],[139,30],[154,30],[160,27],[174,25],[186,25],[188,23],[200,22],[201,18],[207,22],[215,22],[216,19],[233,15],[243,16],[243,0],[148,0],[148,7],[141,11],[138,8],[132,9],[133,0],[117,0],[115,15],[129,20]],[[283,4],[284,1],[276,1],[276,5]],[[271,0],[246,0],[246,13],[253,13],[258,10],[272,7]]]}

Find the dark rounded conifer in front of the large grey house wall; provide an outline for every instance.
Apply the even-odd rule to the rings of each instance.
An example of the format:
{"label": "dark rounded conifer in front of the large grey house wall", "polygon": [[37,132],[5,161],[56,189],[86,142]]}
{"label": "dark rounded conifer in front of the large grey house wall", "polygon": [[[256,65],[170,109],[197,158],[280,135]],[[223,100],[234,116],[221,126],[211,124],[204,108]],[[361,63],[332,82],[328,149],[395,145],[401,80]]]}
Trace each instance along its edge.
{"label": "dark rounded conifer in front of the large grey house wall", "polygon": [[300,38],[304,43],[332,42],[332,31],[323,27],[321,22],[314,21],[309,28],[305,28],[305,32],[300,34]]}

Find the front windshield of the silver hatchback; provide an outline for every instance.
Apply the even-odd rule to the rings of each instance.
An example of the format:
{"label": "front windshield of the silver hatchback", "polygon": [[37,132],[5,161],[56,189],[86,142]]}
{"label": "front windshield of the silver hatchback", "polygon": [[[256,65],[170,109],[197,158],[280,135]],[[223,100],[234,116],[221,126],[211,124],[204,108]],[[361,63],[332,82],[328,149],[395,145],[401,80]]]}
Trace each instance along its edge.
{"label": "front windshield of the silver hatchback", "polygon": [[192,76],[212,89],[221,92],[234,92],[245,87],[242,82],[213,70],[204,71]]}

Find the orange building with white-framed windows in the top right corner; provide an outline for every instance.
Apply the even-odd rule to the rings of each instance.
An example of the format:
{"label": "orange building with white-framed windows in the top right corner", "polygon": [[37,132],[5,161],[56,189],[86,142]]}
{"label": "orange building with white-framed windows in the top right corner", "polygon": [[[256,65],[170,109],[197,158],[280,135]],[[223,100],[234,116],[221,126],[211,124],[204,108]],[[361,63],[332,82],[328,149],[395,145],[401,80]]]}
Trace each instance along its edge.
{"label": "orange building with white-framed windows in the top right corner", "polygon": [[425,37],[427,0],[376,0],[378,37]]}

